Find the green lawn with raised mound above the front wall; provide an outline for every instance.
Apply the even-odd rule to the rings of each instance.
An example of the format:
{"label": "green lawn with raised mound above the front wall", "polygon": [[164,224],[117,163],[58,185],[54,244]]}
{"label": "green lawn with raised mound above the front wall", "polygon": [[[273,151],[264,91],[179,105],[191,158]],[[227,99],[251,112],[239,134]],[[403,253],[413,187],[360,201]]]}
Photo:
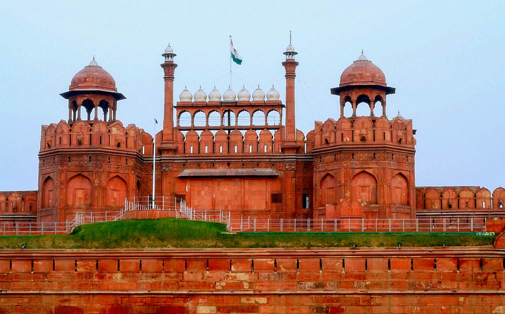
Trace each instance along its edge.
{"label": "green lawn with raised mound above the front wall", "polygon": [[244,232],[185,219],[122,220],[86,224],[69,235],[0,236],[0,248],[205,248],[492,245],[495,235],[475,233]]}

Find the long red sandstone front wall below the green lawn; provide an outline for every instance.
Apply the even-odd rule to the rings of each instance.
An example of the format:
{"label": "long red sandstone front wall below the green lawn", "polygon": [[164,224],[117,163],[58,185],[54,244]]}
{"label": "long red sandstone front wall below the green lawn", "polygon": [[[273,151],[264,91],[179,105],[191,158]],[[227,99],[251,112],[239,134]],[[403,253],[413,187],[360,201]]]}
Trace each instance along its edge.
{"label": "long red sandstone front wall below the green lawn", "polygon": [[492,247],[6,250],[0,312],[502,313]]}

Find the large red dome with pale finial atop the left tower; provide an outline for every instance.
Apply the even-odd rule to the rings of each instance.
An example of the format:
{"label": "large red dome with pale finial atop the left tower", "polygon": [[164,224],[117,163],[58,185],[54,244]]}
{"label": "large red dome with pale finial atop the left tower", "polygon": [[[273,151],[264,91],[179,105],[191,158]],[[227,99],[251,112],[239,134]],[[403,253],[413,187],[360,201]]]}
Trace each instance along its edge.
{"label": "large red dome with pale finial atop the left tower", "polygon": [[116,81],[109,72],[98,66],[96,60],[93,59],[89,65],[77,72],[72,78],[69,91],[73,90],[103,90],[117,92]]}

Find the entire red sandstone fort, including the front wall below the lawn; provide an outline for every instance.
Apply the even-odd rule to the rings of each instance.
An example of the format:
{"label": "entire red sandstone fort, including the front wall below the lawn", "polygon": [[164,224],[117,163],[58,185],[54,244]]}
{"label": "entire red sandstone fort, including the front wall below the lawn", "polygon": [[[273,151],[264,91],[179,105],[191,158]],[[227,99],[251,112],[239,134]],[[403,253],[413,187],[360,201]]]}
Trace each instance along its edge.
{"label": "entire red sandstone fort, including the front wall below the lawn", "polygon": [[[501,221],[502,187],[415,186],[416,130],[411,119],[387,117],[386,97],[395,89],[364,54],[330,89],[340,115],[315,121],[307,134],[297,130],[296,54],[289,44],[284,103],[274,87],[252,95],[245,88],[208,95],[184,89],[174,103],[176,54],[168,46],[161,64],[163,129],[154,138],[116,119],[125,96],[93,58],[61,94],[68,117],[42,125],[38,191],[0,193],[0,221],[63,222],[121,209],[125,199],[151,194],[154,155],[157,196],[232,217]],[[357,116],[358,106],[370,114]],[[505,313],[500,241],[495,247],[3,250],[0,313]]]}

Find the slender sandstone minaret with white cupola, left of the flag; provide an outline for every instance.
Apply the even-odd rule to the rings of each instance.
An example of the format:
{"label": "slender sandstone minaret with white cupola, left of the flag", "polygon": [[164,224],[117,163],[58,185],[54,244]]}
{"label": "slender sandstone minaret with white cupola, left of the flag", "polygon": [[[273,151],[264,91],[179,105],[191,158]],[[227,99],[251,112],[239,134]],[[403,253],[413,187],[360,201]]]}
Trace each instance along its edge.
{"label": "slender sandstone minaret with white cupola, left of the flag", "polygon": [[[163,117],[163,137],[160,150],[162,151],[175,151],[174,145],[174,72],[177,64],[174,63],[176,54],[168,44],[165,48],[165,62],[161,64],[163,68],[163,80],[165,81],[165,104],[164,104],[164,117]],[[154,135],[156,138],[156,134]]]}

